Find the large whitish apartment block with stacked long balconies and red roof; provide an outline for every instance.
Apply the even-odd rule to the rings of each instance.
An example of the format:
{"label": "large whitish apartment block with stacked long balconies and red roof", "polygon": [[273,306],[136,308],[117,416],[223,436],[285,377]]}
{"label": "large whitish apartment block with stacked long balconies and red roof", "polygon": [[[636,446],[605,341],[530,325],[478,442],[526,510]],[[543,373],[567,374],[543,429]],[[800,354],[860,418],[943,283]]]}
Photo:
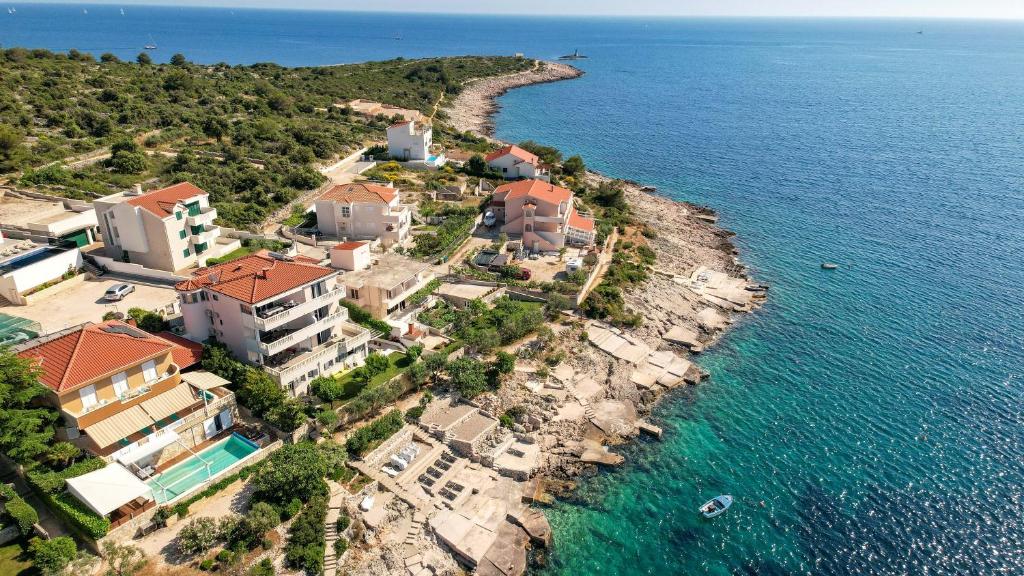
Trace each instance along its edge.
{"label": "large whitish apartment block with stacked long balconies and red roof", "polygon": [[309,381],[362,363],[370,332],[339,305],[338,272],[266,250],[201,269],[175,288],[188,338],[222,342],[295,396]]}

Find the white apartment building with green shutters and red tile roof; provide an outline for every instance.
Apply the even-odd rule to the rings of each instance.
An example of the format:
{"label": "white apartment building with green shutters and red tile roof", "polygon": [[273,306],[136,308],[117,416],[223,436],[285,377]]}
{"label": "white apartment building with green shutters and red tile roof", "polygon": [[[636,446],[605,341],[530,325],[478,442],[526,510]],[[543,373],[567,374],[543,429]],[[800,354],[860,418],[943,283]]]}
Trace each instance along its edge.
{"label": "white apartment building with green shutters and red tile roof", "polygon": [[220,227],[210,196],[188,182],[143,193],[113,194],[93,202],[106,255],[174,272],[216,256]]}

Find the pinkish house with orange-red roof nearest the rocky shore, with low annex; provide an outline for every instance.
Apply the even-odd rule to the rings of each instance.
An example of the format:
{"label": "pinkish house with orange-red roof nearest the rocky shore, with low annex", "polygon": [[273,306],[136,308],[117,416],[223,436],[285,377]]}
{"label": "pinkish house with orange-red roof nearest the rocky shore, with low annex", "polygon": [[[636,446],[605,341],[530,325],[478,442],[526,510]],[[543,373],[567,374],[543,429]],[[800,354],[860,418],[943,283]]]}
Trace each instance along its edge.
{"label": "pinkish house with orange-red roof nearest the rocky shore, with low annex", "polygon": [[555,251],[566,245],[590,246],[594,218],[581,214],[572,192],[544,180],[518,180],[495,190],[488,210],[502,232],[522,239],[523,248]]}

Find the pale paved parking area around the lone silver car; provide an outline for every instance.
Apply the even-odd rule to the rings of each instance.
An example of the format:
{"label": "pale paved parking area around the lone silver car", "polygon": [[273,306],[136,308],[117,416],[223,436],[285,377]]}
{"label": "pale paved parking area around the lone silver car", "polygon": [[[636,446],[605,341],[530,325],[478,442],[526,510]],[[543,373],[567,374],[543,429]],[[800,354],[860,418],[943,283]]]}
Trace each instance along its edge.
{"label": "pale paved parking area around the lone silver car", "polygon": [[44,332],[49,333],[83,322],[99,322],[108,312],[127,314],[130,307],[159,310],[178,298],[173,288],[135,284],[135,291],[120,302],[104,300],[103,293],[106,289],[120,282],[110,279],[86,280],[31,305],[15,306],[5,303],[0,306],[0,312],[35,320],[42,324]]}

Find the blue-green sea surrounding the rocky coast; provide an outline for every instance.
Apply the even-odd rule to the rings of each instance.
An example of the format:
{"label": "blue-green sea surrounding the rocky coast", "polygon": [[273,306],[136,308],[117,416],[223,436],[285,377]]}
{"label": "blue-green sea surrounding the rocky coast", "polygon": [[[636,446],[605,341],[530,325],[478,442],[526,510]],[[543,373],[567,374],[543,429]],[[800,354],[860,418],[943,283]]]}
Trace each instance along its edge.
{"label": "blue-green sea surrounding the rocky coast", "polygon": [[579,49],[497,135],[713,207],[771,288],[663,441],[547,510],[537,572],[1024,574],[1024,23],[10,6],[5,47],[123,58]]}

